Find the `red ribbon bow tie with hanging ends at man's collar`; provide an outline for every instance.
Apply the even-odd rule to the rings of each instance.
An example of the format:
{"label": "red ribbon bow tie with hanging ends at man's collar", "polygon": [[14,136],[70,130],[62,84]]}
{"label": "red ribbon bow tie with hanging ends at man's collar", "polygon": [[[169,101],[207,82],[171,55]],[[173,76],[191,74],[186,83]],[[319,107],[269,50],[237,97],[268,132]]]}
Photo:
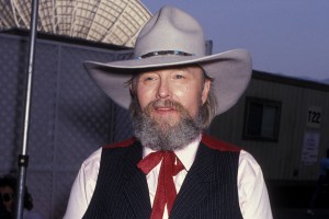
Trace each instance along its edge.
{"label": "red ribbon bow tie with hanging ends at man's collar", "polygon": [[170,215],[177,195],[173,176],[184,169],[182,162],[172,151],[152,152],[139,161],[137,166],[147,175],[161,160],[162,163],[150,219],[162,219],[166,204],[168,215]]}

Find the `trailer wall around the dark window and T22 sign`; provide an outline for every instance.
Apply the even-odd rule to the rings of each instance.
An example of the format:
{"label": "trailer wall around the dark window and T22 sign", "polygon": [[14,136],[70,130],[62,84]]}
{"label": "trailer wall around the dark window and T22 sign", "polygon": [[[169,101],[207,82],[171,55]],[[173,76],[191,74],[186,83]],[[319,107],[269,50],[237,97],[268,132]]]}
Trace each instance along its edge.
{"label": "trailer wall around the dark window and T22 sign", "polygon": [[[277,142],[242,139],[246,96],[282,103]],[[309,106],[321,108],[320,128],[306,126]],[[261,164],[266,180],[314,181],[318,176],[318,160],[329,148],[329,85],[266,73],[253,77],[246,94],[232,110],[216,117],[209,131],[249,151]],[[305,131],[320,135],[317,162],[311,164],[302,162]]]}

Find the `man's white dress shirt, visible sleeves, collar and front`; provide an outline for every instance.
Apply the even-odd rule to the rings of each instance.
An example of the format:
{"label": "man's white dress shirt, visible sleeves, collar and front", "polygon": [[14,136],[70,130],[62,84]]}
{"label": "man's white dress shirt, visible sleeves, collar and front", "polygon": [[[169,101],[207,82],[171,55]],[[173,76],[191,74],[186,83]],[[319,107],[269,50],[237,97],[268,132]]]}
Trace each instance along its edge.
{"label": "man's white dress shirt, visible sleeves, collar and front", "polygon": [[[174,151],[185,168],[185,170],[181,171],[173,178],[178,193],[194,162],[200,140],[201,138],[184,149]],[[143,157],[148,155],[150,152],[154,151],[149,148],[144,148]],[[84,215],[95,188],[101,153],[102,149],[97,150],[82,163],[71,188],[67,211],[64,216],[65,219],[82,218]],[[157,191],[159,171],[160,164],[146,176],[151,204],[154,203]],[[243,219],[272,219],[268,189],[262,171],[252,155],[245,150],[240,151],[237,185],[239,205]],[[168,218],[167,208],[164,208],[163,218]]]}

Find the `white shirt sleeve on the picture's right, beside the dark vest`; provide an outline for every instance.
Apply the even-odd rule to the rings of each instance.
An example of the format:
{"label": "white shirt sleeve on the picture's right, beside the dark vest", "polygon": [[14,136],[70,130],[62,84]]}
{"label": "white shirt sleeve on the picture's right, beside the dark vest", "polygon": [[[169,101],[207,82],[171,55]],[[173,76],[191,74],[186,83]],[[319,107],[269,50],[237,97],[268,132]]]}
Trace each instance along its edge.
{"label": "white shirt sleeve on the picture's right, beside the dark vest", "polygon": [[272,219],[266,185],[260,165],[241,150],[238,169],[239,203],[243,219]]}

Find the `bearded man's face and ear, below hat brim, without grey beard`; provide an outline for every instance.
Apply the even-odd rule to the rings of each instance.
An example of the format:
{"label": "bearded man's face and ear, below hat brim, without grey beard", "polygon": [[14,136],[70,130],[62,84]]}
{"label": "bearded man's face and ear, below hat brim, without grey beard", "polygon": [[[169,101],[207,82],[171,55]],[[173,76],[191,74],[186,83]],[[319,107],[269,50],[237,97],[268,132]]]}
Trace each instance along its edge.
{"label": "bearded man's face and ear, below hat brim, without grey beard", "polygon": [[[158,124],[174,126],[182,117],[180,104],[194,119],[205,103],[211,82],[198,67],[170,68],[139,74],[136,93],[141,111]],[[151,104],[150,107],[147,107]],[[145,112],[147,110],[147,112]]]}

